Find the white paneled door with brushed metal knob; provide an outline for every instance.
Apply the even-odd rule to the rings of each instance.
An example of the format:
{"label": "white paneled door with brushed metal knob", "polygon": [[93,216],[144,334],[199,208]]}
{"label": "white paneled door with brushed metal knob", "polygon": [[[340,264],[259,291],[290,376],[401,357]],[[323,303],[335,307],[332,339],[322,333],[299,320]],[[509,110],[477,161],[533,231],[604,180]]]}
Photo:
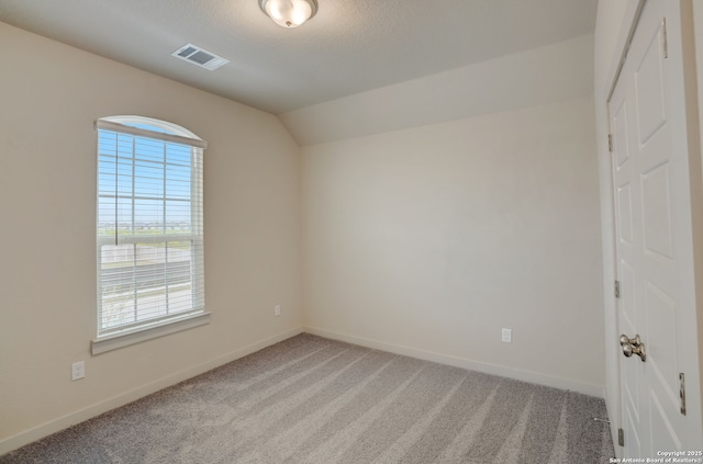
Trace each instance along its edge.
{"label": "white paneled door with brushed metal knob", "polygon": [[[618,325],[632,353],[620,364],[626,457],[703,448],[683,66],[681,42],[671,41],[680,12],[667,16],[674,3],[645,3],[609,102]],[[682,380],[693,405],[685,415]]]}

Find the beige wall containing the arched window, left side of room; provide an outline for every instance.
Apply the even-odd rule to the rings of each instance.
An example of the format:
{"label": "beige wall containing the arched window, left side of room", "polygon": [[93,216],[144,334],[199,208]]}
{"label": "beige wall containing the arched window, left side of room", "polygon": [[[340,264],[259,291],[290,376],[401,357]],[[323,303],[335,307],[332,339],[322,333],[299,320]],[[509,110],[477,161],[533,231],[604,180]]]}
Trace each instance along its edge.
{"label": "beige wall containing the arched window, left side of room", "polygon": [[[275,116],[3,23],[0,61],[0,454],[299,329],[299,148]],[[91,358],[92,124],[119,114],[209,142],[214,314],[208,326]],[[87,376],[71,382],[79,360]]]}

